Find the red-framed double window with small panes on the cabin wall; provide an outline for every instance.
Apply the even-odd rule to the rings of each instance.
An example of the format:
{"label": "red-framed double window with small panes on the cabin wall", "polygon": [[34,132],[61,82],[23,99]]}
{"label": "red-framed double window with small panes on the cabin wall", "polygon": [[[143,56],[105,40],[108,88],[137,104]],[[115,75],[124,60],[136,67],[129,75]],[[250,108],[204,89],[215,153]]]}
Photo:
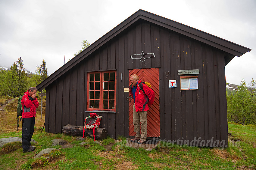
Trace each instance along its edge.
{"label": "red-framed double window with small panes on the cabin wall", "polygon": [[[108,73],[108,78],[106,73]],[[116,86],[116,71],[87,73],[87,110],[116,111]],[[108,108],[106,108],[106,105],[108,105]]]}

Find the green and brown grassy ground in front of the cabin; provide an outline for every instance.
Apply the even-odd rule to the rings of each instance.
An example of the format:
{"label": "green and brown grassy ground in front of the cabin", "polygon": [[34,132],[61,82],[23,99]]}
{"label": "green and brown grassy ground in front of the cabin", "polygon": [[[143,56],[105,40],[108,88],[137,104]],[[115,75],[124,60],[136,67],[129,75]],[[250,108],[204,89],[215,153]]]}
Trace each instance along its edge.
{"label": "green and brown grassy ground in front of the cabin", "polygon": [[[0,111],[8,120],[15,119],[16,112]],[[126,147],[126,138],[118,140],[110,137],[94,143],[92,138],[76,141],[75,137],[40,131],[44,120],[36,116],[33,139],[36,150],[23,153],[20,143],[8,144],[8,152],[0,155],[0,169],[256,169],[256,127],[228,124],[229,148],[200,148],[174,144],[172,147],[157,147],[153,151]],[[5,120],[5,119],[2,119]],[[0,138],[21,137],[17,124],[11,121],[0,122]],[[41,122],[41,123],[40,123]],[[17,122],[16,122],[17,123]],[[16,127],[17,128],[17,127]],[[19,127],[20,128],[20,127]],[[67,147],[52,146],[52,139],[64,139]],[[86,145],[80,145],[86,142]],[[160,146],[162,145],[161,143]],[[68,147],[70,146],[70,147]],[[5,145],[3,148],[8,148]],[[57,148],[47,158],[34,159],[33,156],[45,148]],[[1,149],[1,151],[2,151]]]}

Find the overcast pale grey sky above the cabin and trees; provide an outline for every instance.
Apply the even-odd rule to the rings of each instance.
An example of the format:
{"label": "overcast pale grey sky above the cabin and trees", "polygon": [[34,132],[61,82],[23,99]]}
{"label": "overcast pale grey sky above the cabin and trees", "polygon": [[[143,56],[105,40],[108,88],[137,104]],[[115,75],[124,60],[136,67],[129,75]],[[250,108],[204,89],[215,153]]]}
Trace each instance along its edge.
{"label": "overcast pale grey sky above the cabin and trees", "polygon": [[93,43],[142,9],[248,47],[227,64],[228,83],[256,79],[255,0],[82,1],[0,0],[0,65],[10,67],[19,57],[35,72],[45,59],[54,73],[82,41]]}

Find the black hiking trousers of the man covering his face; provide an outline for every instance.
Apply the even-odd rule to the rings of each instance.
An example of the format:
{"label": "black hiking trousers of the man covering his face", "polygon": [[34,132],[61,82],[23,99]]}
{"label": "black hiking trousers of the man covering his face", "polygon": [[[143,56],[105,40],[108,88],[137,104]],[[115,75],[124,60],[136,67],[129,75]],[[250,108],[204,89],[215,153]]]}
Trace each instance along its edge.
{"label": "black hiking trousers of the man covering his face", "polygon": [[22,148],[27,151],[34,133],[35,118],[22,118]]}

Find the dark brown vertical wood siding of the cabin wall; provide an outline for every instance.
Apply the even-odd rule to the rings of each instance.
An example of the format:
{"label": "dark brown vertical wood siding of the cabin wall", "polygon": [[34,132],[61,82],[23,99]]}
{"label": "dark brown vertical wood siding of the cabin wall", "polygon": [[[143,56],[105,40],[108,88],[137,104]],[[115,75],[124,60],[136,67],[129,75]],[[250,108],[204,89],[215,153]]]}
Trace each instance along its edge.
{"label": "dark brown vertical wood siding of the cabin wall", "polygon": [[[133,54],[155,53],[141,62]],[[47,88],[46,132],[61,133],[66,124],[83,126],[87,73],[117,71],[117,111],[100,112],[108,135],[129,136],[129,70],[159,68],[160,138],[227,140],[226,53],[200,41],[149,23],[136,22],[106,42]],[[178,70],[199,69],[198,90],[180,90]],[[168,75],[169,76],[166,76]],[[177,88],[169,88],[177,80]],[[203,144],[203,143],[202,143]],[[200,145],[200,142],[199,142]]]}

